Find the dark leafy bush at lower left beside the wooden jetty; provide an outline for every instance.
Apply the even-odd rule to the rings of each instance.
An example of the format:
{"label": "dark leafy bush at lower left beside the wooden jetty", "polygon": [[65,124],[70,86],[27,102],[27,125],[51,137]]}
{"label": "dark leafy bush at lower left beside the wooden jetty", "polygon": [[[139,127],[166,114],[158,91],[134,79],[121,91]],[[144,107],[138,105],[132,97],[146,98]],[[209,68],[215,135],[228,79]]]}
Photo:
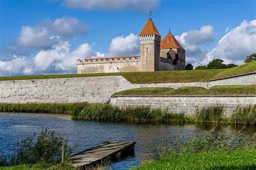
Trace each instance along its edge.
{"label": "dark leafy bush at lower left beside the wooden jetty", "polygon": [[62,159],[62,146],[64,146],[64,158],[70,159],[70,154],[77,146],[70,147],[68,140],[56,136],[54,131],[45,128],[36,139],[36,133],[31,137],[26,136],[17,144],[17,154],[2,157],[0,166],[21,164],[47,164],[60,163]]}

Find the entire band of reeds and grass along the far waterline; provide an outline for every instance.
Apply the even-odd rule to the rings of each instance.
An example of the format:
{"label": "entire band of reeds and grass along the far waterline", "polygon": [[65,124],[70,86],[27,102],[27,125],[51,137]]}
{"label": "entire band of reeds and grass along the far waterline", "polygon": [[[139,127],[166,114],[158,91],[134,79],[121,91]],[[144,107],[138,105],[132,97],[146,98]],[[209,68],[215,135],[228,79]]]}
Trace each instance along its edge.
{"label": "entire band of reeds and grass along the far waterline", "polygon": [[256,123],[256,105],[238,107],[231,118],[223,117],[224,107],[196,108],[196,115],[170,113],[168,110],[151,109],[150,107],[118,108],[110,104],[67,103],[67,104],[0,104],[0,112],[36,112],[50,114],[69,114],[75,120],[88,121],[122,121],[150,123],[217,123],[217,124],[250,124]]}

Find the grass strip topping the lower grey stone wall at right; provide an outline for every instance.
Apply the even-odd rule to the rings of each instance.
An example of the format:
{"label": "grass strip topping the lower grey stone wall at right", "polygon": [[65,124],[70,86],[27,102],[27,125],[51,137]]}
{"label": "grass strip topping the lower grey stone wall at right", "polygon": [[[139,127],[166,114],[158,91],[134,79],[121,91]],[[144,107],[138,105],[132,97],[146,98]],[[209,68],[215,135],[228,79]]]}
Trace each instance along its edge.
{"label": "grass strip topping the lower grey stone wall at right", "polygon": [[145,95],[256,95],[256,85],[213,86],[210,89],[203,87],[167,87],[136,88],[120,91],[112,96],[145,96]]}

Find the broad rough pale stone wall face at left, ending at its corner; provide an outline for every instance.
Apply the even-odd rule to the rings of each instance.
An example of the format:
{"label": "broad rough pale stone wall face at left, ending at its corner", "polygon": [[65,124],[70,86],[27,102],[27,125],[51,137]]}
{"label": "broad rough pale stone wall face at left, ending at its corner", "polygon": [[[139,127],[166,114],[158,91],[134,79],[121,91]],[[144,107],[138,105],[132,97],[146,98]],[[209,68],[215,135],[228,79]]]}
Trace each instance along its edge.
{"label": "broad rough pale stone wall face at left, ending at its corner", "polygon": [[0,103],[104,103],[119,76],[0,81]]}

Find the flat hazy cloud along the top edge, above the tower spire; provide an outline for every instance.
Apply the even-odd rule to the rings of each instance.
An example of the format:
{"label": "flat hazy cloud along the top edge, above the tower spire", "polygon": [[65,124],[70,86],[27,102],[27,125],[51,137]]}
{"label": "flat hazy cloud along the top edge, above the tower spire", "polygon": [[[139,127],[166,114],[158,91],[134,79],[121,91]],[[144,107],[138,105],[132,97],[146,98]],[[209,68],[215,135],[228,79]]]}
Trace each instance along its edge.
{"label": "flat hazy cloud along the top edge, above the tower spire", "polygon": [[85,10],[149,11],[157,8],[159,0],[65,0],[68,8]]}

